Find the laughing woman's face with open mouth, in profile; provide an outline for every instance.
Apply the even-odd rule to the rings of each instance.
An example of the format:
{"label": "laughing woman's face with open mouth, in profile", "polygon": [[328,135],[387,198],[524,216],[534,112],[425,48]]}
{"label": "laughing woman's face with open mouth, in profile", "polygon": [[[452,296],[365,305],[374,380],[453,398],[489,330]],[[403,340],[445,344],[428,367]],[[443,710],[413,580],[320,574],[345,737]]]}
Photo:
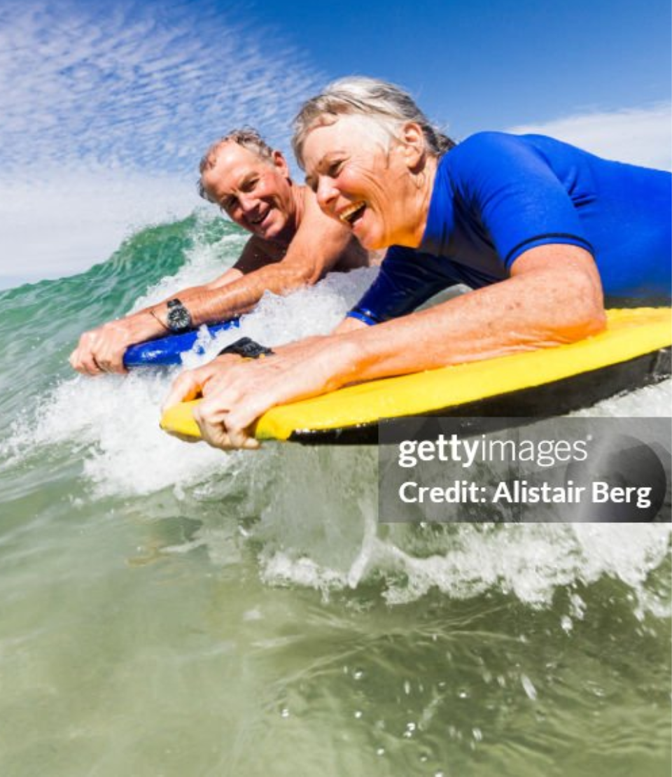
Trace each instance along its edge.
{"label": "laughing woman's face with open mouth, in profile", "polygon": [[374,120],[342,116],[304,141],[306,183],[366,249],[410,245],[419,214],[406,147]]}

